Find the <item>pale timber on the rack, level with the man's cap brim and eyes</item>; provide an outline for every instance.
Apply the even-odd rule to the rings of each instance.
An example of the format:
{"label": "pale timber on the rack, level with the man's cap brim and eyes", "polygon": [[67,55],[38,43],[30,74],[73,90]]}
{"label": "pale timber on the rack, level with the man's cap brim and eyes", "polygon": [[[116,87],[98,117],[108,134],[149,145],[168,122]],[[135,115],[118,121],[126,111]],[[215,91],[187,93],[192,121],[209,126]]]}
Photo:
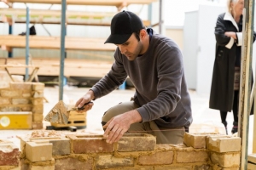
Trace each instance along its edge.
{"label": "pale timber on the rack, level with the man's cap brim and eyes", "polygon": [[[87,37],[66,37],[66,49],[81,49],[92,51],[114,51],[116,46],[107,43],[104,44],[106,39],[101,38],[87,38]],[[26,48],[25,36],[2,35],[0,36],[0,46],[10,48]],[[60,37],[29,37],[29,48],[48,48],[60,49]]]}

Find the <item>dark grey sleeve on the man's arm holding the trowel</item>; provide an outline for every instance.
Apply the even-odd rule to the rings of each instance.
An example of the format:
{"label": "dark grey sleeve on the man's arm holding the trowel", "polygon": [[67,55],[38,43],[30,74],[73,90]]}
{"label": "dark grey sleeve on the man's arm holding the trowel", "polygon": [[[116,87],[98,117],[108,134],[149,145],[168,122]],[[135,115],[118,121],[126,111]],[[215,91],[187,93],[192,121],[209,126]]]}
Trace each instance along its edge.
{"label": "dark grey sleeve on the man's arm holding the trowel", "polygon": [[109,94],[116,88],[119,88],[119,86],[125,82],[127,74],[122,63],[122,56],[117,52],[118,50],[119,49],[117,48],[114,53],[115,60],[110,71],[108,71],[108,74],[105,77],[102,77],[99,82],[90,88],[94,92],[95,99]]}

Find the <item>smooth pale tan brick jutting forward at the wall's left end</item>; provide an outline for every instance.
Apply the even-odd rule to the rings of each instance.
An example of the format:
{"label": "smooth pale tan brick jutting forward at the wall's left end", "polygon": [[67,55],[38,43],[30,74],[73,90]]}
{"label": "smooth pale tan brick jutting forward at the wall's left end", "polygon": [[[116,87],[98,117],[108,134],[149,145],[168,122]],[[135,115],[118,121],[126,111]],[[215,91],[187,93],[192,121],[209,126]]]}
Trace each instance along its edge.
{"label": "smooth pale tan brick jutting forward at the wall's left end", "polygon": [[51,160],[52,144],[48,142],[26,142],[26,158],[32,162]]}

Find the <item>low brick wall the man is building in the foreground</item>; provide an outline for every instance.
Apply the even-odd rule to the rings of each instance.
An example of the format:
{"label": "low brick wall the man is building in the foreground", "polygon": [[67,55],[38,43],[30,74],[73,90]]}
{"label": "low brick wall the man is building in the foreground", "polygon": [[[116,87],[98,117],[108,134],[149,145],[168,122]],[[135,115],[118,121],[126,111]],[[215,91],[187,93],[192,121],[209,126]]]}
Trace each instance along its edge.
{"label": "low brick wall the man is building in the foreground", "polygon": [[156,144],[149,134],[125,134],[108,144],[102,135],[21,139],[26,170],[238,170],[241,139],[218,134],[184,135],[184,144]]}

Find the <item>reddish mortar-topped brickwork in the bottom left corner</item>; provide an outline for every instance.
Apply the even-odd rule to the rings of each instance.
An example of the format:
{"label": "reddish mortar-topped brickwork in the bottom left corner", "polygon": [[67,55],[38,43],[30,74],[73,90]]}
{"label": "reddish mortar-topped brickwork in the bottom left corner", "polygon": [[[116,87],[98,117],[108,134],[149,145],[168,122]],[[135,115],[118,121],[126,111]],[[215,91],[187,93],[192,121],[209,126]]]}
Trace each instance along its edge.
{"label": "reddish mortar-topped brickwork in the bottom left corner", "polygon": [[20,150],[11,141],[0,139],[0,169],[19,170]]}

